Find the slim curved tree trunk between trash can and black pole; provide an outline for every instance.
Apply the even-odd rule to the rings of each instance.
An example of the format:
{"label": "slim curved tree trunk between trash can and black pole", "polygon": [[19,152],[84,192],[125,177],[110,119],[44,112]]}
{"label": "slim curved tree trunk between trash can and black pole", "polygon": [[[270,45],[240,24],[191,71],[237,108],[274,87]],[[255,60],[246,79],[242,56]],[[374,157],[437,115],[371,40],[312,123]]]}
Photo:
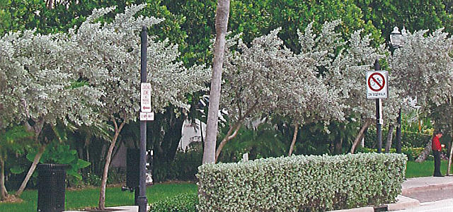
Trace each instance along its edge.
{"label": "slim curved tree trunk between trash can and black pole", "polygon": [[115,143],[118,139],[118,136],[120,136],[122,127],[125,126],[125,122],[122,122],[120,124],[120,127],[118,127],[116,120],[113,120],[113,124],[115,124],[115,136],[113,136],[112,142],[108,147],[107,156],[105,157],[104,171],[101,180],[101,192],[99,192],[99,210],[105,210],[105,187],[107,186],[108,167],[110,167],[110,160],[112,160],[113,148],[115,148]]}

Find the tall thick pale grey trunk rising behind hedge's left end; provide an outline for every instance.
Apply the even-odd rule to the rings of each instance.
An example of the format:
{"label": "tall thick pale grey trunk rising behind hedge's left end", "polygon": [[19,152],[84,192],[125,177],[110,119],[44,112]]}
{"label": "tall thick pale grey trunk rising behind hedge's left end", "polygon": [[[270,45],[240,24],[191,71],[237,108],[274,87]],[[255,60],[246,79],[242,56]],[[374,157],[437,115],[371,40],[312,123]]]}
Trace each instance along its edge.
{"label": "tall thick pale grey trunk rising behind hedge's left end", "polygon": [[[225,35],[229,18],[229,0],[217,0],[217,11],[215,17],[216,39],[214,45],[214,59],[212,64],[212,80],[210,91],[210,105],[207,112],[207,126],[205,148],[203,150],[202,163],[215,163],[217,152],[217,122],[219,114],[220,87],[222,84],[222,66],[225,52]],[[224,141],[222,141],[224,142]],[[222,149],[222,148],[220,148]]]}

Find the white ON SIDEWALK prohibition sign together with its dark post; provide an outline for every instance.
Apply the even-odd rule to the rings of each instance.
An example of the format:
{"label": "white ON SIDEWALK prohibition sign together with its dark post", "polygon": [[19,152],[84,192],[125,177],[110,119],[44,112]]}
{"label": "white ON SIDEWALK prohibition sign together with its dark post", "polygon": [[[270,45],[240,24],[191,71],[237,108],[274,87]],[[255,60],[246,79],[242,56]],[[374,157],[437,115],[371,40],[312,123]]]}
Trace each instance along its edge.
{"label": "white ON SIDEWALK prohibition sign together with its dark post", "polygon": [[387,71],[380,71],[379,61],[374,62],[375,71],[367,71],[367,99],[376,99],[377,152],[382,152],[382,99],[388,97],[389,78]]}

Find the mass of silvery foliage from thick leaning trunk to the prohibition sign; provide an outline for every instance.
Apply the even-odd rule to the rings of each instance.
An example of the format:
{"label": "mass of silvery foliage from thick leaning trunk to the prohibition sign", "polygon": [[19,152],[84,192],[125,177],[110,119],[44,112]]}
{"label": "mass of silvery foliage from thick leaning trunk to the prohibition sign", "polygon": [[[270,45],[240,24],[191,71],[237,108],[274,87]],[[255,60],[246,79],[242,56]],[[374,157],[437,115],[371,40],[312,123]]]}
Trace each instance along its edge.
{"label": "mass of silvery foliage from thick leaning trunk to the prohibition sign", "polygon": [[[360,115],[372,118],[375,100],[366,98],[366,71],[383,58],[384,47],[370,45],[369,35],[352,33],[343,41],[336,27],[340,20],[326,22],[320,33],[312,24],[298,32],[301,52],[290,52],[277,37],[278,30],[246,45],[236,35],[227,41],[224,64],[223,107],[233,120],[260,117],[270,112],[287,115],[300,124],[343,121]],[[390,80],[391,76],[390,76]],[[389,86],[383,100],[384,117],[396,120],[399,90]]]}

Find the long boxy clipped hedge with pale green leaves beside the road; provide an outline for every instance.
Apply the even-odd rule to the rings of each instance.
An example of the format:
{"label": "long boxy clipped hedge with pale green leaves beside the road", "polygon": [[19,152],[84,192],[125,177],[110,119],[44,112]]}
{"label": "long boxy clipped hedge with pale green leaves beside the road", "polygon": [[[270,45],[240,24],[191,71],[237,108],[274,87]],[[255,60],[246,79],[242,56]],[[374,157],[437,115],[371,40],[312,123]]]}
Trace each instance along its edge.
{"label": "long boxy clipped hedge with pale green leaves beside the road", "polygon": [[394,202],[403,154],[297,155],[198,168],[200,211],[329,211]]}

